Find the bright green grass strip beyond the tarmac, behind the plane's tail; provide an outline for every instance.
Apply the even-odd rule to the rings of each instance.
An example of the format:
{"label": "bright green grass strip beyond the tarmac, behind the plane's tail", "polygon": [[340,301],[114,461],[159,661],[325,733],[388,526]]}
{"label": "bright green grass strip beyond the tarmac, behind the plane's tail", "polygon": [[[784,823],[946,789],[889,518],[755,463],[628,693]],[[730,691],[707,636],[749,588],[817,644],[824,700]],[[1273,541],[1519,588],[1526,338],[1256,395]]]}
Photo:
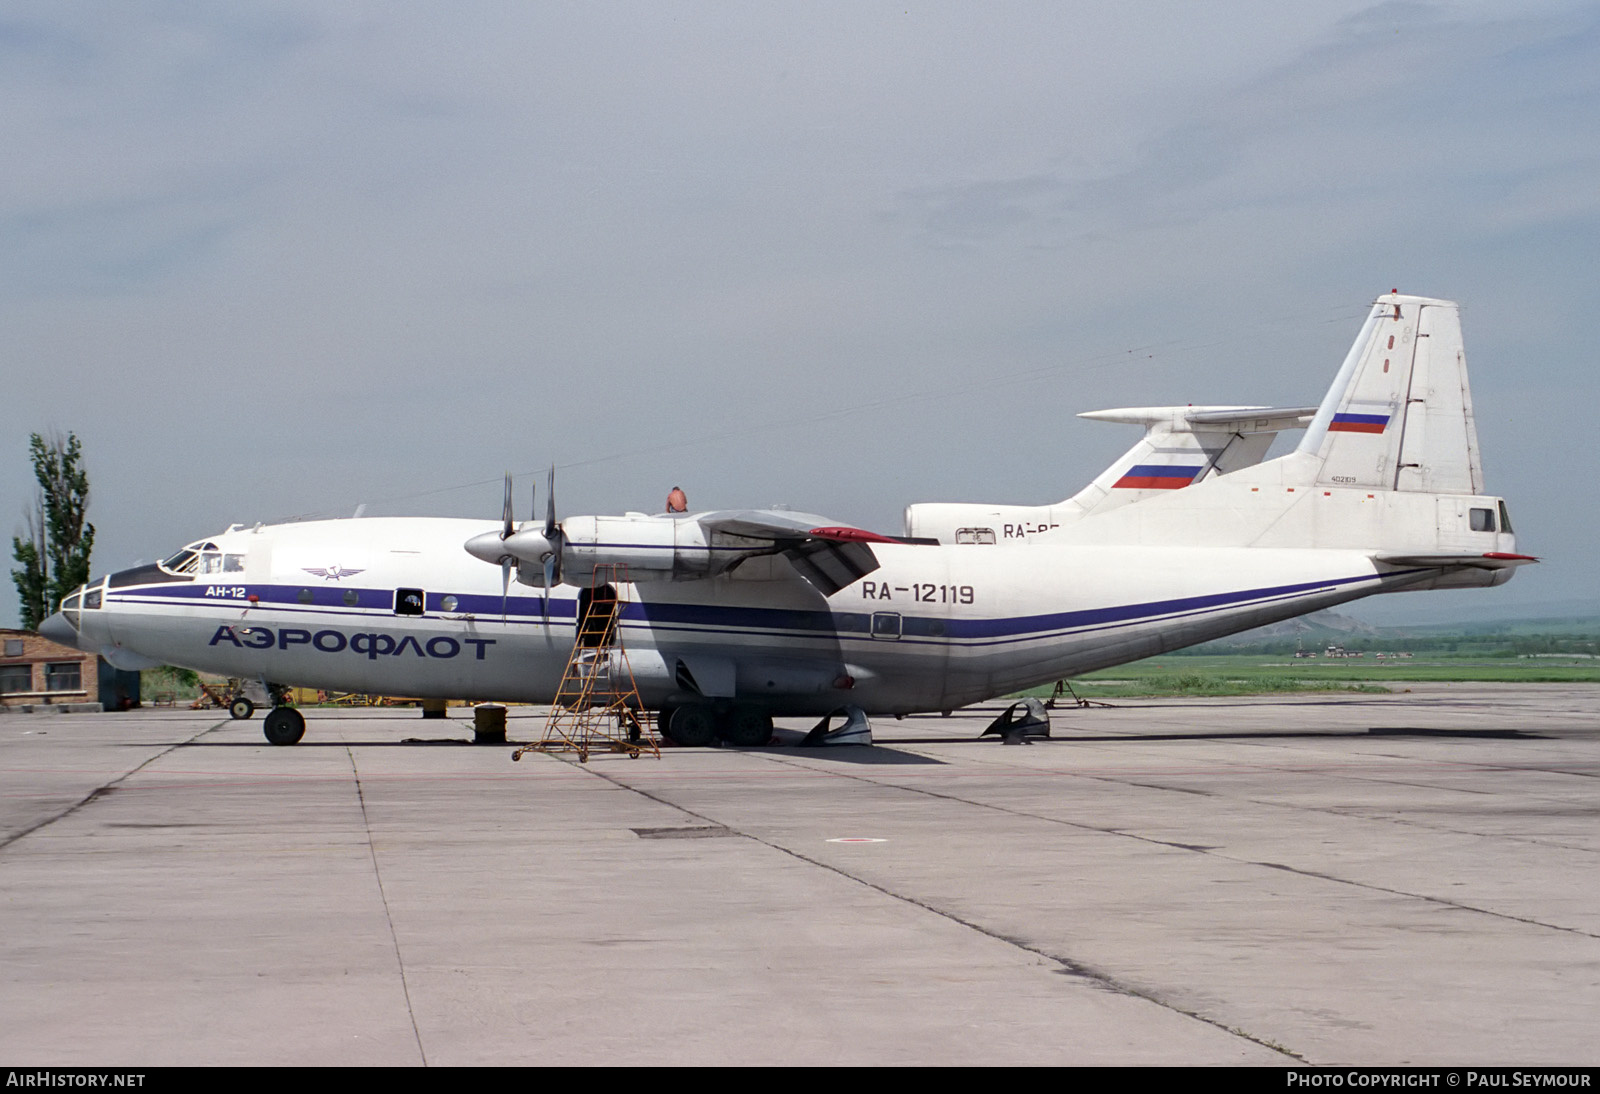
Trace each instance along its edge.
{"label": "bright green grass strip beyond the tarmac, behind the plane's tail", "polygon": [[[1282,654],[1163,654],[1070,683],[1094,696],[1254,696],[1283,691],[1390,691],[1418,681],[1600,683],[1592,657],[1296,659]],[[1050,688],[1026,694],[1048,696]]]}

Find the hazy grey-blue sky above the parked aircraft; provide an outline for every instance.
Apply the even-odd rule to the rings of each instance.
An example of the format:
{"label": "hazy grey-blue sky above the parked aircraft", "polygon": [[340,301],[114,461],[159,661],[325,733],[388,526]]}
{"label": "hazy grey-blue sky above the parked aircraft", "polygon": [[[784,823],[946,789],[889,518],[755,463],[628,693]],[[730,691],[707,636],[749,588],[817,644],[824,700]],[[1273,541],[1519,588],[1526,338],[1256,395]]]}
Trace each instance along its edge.
{"label": "hazy grey-blue sky above the parked aircraft", "polygon": [[1595,3],[48,0],[0,102],[0,531],[74,430],[98,573],[552,462],[1058,501],[1138,435],[1077,411],[1315,403],[1400,288],[1549,558],[1469,595],[1600,597]]}

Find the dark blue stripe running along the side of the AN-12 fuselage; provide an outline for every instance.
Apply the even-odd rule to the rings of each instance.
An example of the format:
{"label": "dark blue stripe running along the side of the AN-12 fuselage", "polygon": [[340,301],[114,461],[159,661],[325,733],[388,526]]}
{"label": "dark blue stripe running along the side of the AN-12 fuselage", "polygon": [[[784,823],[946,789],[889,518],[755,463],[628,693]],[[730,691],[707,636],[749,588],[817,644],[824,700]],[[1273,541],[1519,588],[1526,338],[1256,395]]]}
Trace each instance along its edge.
{"label": "dark blue stripe running along the side of the AN-12 fuselage", "polygon": [[[1392,571],[1382,574],[1358,574],[1354,577],[1333,577],[1328,581],[1309,581],[1290,585],[1267,585],[1261,589],[1245,589],[1238,592],[1226,593],[1208,593],[1203,597],[1179,597],[1173,600],[1152,600],[1136,605],[1114,605],[1109,608],[1088,608],[1080,611],[1062,611],[1048,613],[1038,616],[1010,616],[998,619],[960,619],[960,617],[942,617],[942,616],[914,616],[906,614],[904,621],[907,629],[922,630],[923,635],[907,635],[901,641],[962,641],[963,645],[1000,645],[1003,641],[1027,641],[1035,638],[1045,638],[1056,633],[1072,632],[1072,630],[1106,630],[1112,627],[1131,625],[1136,622],[1152,621],[1162,616],[1194,616],[1208,614],[1213,611],[1222,611],[1226,608],[1246,606],[1250,603],[1270,603],[1277,600],[1290,600],[1304,593],[1354,585],[1360,582],[1392,582],[1395,577],[1410,577],[1413,574],[1426,573],[1427,568],[1414,568],[1403,571]],[[248,605],[242,600],[224,600],[218,597],[200,597],[194,595],[192,587],[173,589],[171,585],[157,585],[147,589],[130,590],[130,593],[138,595],[117,595],[107,600],[114,603],[144,603],[144,605],[162,605],[171,603],[174,600],[197,600],[198,603],[211,603],[218,608],[226,608],[235,611],[240,608],[270,608],[274,611],[290,611],[299,614],[323,614],[323,616],[354,616],[358,619],[376,619],[386,616],[368,614],[357,609],[349,609],[342,605],[318,606],[315,601],[312,605],[301,605],[298,601],[299,585],[251,585],[258,590],[258,605]],[[318,590],[330,592],[330,590]],[[342,590],[338,590],[342,597]],[[394,592],[387,589],[363,589],[360,605],[378,601],[378,606],[386,611],[394,605]],[[443,597],[446,593],[437,593]],[[459,605],[458,611],[470,613],[478,616],[483,622],[494,622],[501,614],[501,598],[494,595],[483,593],[456,593]],[[429,593],[429,605],[434,605],[434,593]],[[453,614],[453,613],[451,613]],[[550,619],[573,619],[578,614],[578,603],[574,600],[557,600],[550,598]],[[424,619],[438,621],[437,611]],[[510,597],[506,603],[507,622],[515,624],[542,624],[544,622],[544,601],[542,597]],[[773,632],[803,632],[813,637],[837,637],[840,640],[848,638],[870,638],[869,622],[870,613],[843,613],[843,611],[813,611],[813,609],[792,609],[792,608],[749,608],[749,606],[720,606],[720,605],[686,605],[686,603],[651,603],[651,601],[632,601],[622,606],[622,619],[632,627],[651,627],[662,630],[678,630],[686,633],[773,633]],[[944,635],[938,635],[933,627],[942,624]],[[882,640],[874,640],[882,641]]]}

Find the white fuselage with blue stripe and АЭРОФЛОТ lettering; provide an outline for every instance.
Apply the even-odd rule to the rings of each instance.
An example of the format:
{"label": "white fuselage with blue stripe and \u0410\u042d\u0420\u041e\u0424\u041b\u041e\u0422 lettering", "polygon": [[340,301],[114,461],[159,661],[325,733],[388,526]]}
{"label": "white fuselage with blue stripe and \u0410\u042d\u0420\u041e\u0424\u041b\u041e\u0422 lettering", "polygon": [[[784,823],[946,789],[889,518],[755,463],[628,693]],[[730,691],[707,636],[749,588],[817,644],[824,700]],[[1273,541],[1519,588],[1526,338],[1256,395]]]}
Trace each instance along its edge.
{"label": "white fuselage with blue stripe and \u0410\u042d\u0420\u041e\u0424\u041b\u041e\u0422 lettering", "polygon": [[[90,585],[80,645],[272,683],[549,702],[579,590],[512,582],[462,550],[493,525],[370,518],[229,531],[229,573],[154,568]],[[1362,550],[875,544],[824,597],[776,555],[621,587],[640,696],[776,715],[946,710],[1437,577]],[[150,581],[150,577],[158,577]],[[408,592],[419,614],[398,614]],[[86,597],[85,603],[94,598]],[[685,672],[686,670],[686,672]],[[693,689],[685,680],[693,681]]]}

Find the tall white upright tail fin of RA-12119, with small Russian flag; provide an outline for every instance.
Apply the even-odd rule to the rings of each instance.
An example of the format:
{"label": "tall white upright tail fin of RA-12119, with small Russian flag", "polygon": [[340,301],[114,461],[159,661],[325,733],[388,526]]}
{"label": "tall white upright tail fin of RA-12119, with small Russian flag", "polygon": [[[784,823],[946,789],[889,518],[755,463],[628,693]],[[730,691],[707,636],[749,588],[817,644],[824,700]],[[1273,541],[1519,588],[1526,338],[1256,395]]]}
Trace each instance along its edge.
{"label": "tall white upright tail fin of RA-12119, with small Russian flag", "polygon": [[1482,494],[1459,305],[1379,296],[1296,454],[1317,486]]}

